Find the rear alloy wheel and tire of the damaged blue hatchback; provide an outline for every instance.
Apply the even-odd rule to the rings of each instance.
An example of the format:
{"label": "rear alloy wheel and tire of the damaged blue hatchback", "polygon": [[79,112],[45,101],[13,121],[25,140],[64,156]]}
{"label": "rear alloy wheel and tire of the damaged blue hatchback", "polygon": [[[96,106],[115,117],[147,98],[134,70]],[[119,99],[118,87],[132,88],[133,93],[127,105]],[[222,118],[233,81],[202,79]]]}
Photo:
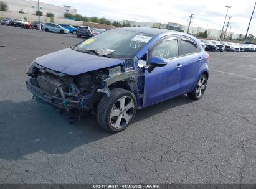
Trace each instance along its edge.
{"label": "rear alloy wheel and tire of the damaged blue hatchback", "polygon": [[199,80],[197,81],[197,84],[194,90],[191,93],[187,93],[187,96],[195,100],[202,98],[202,95],[204,95],[204,92],[206,91],[206,84],[207,84],[207,76],[205,74],[202,74]]}

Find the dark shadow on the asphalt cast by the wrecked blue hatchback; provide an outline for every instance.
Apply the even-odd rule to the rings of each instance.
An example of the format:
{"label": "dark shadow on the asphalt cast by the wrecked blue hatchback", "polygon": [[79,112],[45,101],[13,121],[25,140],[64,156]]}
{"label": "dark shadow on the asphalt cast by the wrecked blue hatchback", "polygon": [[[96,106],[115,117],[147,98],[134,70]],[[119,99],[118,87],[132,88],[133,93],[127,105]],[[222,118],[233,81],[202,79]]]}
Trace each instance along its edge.
{"label": "dark shadow on the asphalt cast by the wrecked blue hatchback", "polygon": [[[133,123],[192,102],[187,96],[180,96],[156,104],[138,111]],[[80,121],[70,116],[67,113],[60,116],[59,109],[34,100],[0,101],[0,159],[22,159],[39,151],[64,154],[111,135],[98,126],[96,116],[90,115]]]}

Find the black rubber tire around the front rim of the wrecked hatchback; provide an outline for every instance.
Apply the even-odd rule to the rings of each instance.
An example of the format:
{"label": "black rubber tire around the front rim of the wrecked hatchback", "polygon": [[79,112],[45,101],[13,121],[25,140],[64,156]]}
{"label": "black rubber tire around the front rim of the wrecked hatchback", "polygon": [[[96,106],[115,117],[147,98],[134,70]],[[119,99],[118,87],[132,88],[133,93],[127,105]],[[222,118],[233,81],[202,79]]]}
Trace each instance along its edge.
{"label": "black rubber tire around the front rim of the wrecked hatchback", "polygon": [[[129,109],[127,109],[127,110],[124,109],[123,110],[123,111],[126,110],[126,113],[128,111],[132,111],[132,113],[131,112],[129,113],[131,117],[130,117],[129,121],[126,122],[125,121],[126,119],[124,119],[123,116],[121,116],[120,120],[125,121],[125,125],[121,126],[121,128],[117,129],[117,128],[112,126],[112,124],[111,124],[112,121],[110,119],[110,116],[111,116],[112,108],[118,102],[118,99],[121,99],[121,98],[125,98],[125,100],[126,99],[132,99],[133,100],[132,103],[133,103],[134,107],[131,108],[130,110]],[[130,124],[131,120],[135,117],[136,108],[137,108],[136,104],[137,104],[136,103],[136,98],[135,98],[134,94],[131,93],[130,91],[125,90],[123,88],[115,88],[115,89],[111,90],[110,91],[110,97],[107,97],[107,94],[104,94],[104,96],[100,100],[100,103],[98,104],[98,108],[97,108],[97,121],[98,121],[98,124],[100,124],[100,126],[103,127],[103,129],[105,129],[108,132],[120,132],[120,131],[125,130],[126,127],[128,127],[128,125]],[[119,116],[116,116],[116,117],[119,117]],[[112,118],[114,118],[114,117],[112,117]]]}

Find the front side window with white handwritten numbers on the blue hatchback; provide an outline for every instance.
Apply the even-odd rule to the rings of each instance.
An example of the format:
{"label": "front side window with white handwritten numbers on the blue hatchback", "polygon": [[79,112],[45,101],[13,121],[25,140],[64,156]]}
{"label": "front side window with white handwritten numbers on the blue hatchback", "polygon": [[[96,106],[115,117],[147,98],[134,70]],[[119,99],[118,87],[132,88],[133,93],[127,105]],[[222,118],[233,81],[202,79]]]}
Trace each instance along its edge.
{"label": "front side window with white handwritten numbers on the blue hatchback", "polygon": [[152,51],[152,57],[163,57],[165,59],[170,59],[174,57],[178,57],[178,41],[174,40],[166,40],[158,44],[154,47]]}

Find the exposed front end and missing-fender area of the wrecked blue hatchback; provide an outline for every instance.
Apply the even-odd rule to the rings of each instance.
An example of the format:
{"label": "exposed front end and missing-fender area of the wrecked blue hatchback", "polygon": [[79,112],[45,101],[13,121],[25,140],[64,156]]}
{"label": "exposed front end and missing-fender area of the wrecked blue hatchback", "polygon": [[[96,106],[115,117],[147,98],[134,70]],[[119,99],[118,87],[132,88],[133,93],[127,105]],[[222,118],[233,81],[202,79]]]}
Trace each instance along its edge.
{"label": "exposed front end and missing-fender area of the wrecked blue hatchback", "polygon": [[122,65],[75,76],[50,70],[35,62],[28,71],[27,89],[42,103],[68,111],[80,108],[93,112],[102,96],[110,95],[111,88],[125,88],[135,95],[140,93],[137,90],[138,83],[141,84],[138,82],[140,70],[133,70],[127,61],[130,60]]}

